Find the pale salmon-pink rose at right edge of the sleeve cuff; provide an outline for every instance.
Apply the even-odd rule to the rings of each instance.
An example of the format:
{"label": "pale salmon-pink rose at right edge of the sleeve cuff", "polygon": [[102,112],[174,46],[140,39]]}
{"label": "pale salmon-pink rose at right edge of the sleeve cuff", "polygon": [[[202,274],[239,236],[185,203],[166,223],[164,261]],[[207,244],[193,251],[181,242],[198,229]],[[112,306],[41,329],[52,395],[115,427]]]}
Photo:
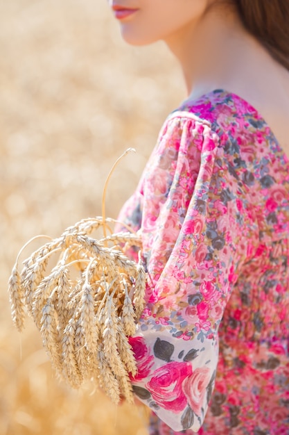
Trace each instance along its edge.
{"label": "pale salmon-pink rose at right edge of the sleeve cuff", "polygon": [[184,379],[183,391],[191,409],[197,416],[201,416],[204,407],[204,397],[207,395],[207,385],[210,381],[208,367],[196,368],[193,375]]}

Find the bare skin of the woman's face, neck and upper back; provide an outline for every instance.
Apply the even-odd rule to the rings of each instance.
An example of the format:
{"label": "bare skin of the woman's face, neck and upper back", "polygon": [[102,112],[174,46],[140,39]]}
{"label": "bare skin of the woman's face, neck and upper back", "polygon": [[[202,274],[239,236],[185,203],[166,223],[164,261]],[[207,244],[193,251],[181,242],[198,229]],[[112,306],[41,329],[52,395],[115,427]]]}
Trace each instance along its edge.
{"label": "bare skin of the woman's face, neck and upper back", "polygon": [[[289,155],[289,72],[243,28],[234,7],[220,0],[108,3],[128,44],[166,42],[182,67],[189,99],[217,88],[240,95],[259,110]],[[120,10],[128,14],[121,17]]]}

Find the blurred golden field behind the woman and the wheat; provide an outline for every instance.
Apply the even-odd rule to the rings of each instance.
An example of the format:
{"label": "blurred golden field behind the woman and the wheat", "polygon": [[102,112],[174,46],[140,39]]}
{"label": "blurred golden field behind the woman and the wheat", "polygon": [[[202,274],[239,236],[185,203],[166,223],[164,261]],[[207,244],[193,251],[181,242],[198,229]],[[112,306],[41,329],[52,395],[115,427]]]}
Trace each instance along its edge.
{"label": "blurred golden field behind the woman and the wheat", "polygon": [[146,435],[139,409],[55,379],[34,325],[12,326],[7,281],[26,240],[100,215],[105,177],[134,147],[108,189],[116,217],[182,78],[162,44],[121,40],[105,0],[2,0],[0,54],[0,435]]}

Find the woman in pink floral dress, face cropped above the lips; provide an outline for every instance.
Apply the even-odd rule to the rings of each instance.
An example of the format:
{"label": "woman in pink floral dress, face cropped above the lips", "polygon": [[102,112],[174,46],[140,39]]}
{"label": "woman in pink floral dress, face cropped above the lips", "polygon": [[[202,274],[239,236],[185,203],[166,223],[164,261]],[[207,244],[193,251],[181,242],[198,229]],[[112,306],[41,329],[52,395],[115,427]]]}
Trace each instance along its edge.
{"label": "woman in pink floral dress, face cropped above the lips", "polygon": [[110,6],[128,43],[166,42],[189,95],[121,212],[149,276],[130,343],[150,434],[288,434],[289,2]]}

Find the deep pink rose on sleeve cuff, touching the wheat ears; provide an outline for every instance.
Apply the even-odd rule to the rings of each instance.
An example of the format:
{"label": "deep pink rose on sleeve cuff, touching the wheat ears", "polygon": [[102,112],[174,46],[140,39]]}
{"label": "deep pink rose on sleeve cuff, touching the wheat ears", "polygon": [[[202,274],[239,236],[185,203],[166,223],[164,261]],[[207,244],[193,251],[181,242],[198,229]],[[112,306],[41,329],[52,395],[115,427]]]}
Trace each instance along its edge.
{"label": "deep pink rose on sleeve cuff, touching the wheat ears", "polygon": [[134,352],[134,358],[137,361],[137,375],[131,377],[131,379],[140,381],[150,374],[154,357],[150,354],[150,350],[142,337],[129,337],[128,341],[132,346],[132,352]]}

